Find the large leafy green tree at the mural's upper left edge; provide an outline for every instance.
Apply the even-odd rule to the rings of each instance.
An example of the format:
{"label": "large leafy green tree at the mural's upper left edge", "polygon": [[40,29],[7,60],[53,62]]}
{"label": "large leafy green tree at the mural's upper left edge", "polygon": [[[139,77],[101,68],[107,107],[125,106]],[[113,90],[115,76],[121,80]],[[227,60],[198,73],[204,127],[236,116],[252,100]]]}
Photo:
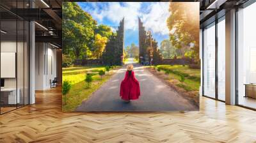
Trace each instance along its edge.
{"label": "large leafy green tree at the mural's upper left edge", "polygon": [[90,56],[97,22],[77,3],[65,2],[62,8],[63,54],[74,59]]}

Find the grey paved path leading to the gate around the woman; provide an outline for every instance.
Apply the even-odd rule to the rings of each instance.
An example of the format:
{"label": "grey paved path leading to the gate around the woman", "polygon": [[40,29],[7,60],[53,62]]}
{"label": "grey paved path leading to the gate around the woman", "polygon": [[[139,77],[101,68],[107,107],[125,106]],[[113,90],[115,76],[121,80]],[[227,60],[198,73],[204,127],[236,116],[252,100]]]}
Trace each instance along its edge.
{"label": "grey paved path leading to the gate around the woman", "polygon": [[193,103],[186,100],[164,82],[157,79],[143,66],[134,64],[136,78],[140,82],[141,96],[138,100],[126,103],[121,100],[120,83],[124,79],[125,66],[95,93],[84,100],[77,111],[172,111],[196,110]]}

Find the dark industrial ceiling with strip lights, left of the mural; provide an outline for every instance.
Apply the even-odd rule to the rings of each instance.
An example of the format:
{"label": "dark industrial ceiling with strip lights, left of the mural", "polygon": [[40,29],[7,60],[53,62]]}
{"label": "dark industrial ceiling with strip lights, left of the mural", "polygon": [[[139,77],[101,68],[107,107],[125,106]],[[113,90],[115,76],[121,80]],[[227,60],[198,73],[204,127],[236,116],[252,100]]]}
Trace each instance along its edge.
{"label": "dark industrial ceiling with strip lights, left of the mural", "polygon": [[[33,20],[36,22],[36,42],[51,42],[61,47],[61,3],[61,0],[1,0],[1,20],[6,25],[4,30],[8,31],[10,37],[12,34],[17,35],[13,20]],[[17,30],[18,35],[20,30]]]}

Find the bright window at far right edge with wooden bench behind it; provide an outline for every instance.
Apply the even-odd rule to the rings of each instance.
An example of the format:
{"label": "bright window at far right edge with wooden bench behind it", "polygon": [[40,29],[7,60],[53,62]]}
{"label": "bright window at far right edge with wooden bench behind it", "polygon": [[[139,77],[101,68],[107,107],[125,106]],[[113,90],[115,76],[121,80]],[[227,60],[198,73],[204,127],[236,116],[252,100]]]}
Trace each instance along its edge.
{"label": "bright window at far right edge with wooden bench behind it", "polygon": [[237,11],[237,103],[256,109],[256,3]]}

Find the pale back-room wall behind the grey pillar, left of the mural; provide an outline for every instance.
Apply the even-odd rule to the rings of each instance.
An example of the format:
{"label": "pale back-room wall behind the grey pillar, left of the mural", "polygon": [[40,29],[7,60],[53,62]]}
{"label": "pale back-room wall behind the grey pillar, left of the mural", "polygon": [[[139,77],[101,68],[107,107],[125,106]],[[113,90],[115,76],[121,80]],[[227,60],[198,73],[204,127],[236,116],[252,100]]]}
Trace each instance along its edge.
{"label": "pale back-room wall behind the grey pillar, left of the mural", "polygon": [[56,77],[56,49],[49,43],[36,43],[35,47],[35,89],[49,89],[50,80]]}

